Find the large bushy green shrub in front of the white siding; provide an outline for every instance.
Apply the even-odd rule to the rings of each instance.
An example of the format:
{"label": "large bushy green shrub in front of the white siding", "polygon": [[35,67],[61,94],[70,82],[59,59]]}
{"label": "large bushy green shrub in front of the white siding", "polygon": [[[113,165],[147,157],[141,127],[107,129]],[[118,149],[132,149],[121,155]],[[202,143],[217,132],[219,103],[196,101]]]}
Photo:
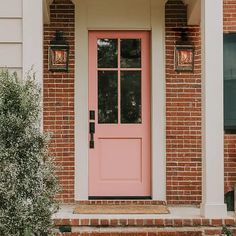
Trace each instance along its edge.
{"label": "large bushy green shrub in front of the white siding", "polygon": [[0,72],[0,235],[49,235],[58,191],[35,75]]}

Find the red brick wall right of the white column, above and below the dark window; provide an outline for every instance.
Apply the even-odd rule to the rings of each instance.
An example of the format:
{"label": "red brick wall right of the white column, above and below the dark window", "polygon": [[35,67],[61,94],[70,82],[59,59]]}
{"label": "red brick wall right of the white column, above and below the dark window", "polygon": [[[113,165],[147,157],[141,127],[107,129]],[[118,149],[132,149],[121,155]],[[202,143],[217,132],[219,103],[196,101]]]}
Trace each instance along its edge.
{"label": "red brick wall right of the white column, above and below the dark window", "polygon": [[[224,0],[224,32],[236,33],[236,0]],[[236,183],[236,134],[225,134],[225,192]]]}

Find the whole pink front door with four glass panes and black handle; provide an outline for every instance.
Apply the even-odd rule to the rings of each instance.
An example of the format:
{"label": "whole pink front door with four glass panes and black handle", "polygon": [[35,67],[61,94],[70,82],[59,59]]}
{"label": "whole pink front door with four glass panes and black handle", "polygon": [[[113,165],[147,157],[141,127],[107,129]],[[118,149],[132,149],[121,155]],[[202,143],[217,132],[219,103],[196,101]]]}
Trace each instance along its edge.
{"label": "whole pink front door with four glass panes and black handle", "polygon": [[150,38],[89,32],[89,196],[149,197]]}

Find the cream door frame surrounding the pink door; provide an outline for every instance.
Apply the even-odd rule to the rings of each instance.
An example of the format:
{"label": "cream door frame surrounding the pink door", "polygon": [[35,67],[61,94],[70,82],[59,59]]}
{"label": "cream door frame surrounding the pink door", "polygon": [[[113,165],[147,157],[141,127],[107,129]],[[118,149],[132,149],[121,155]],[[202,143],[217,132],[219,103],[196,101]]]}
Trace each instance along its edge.
{"label": "cream door frame surrounding the pink door", "polygon": [[165,1],[149,2],[150,25],[135,29],[89,27],[87,1],[75,3],[75,200],[88,200],[88,32],[132,29],[151,34],[151,191],[152,200],[166,200]]}

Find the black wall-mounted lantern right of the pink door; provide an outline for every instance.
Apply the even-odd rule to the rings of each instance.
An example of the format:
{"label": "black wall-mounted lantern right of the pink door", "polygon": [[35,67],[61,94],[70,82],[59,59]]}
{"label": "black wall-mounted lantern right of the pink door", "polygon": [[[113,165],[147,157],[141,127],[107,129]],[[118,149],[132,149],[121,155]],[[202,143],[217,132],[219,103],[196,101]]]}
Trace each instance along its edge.
{"label": "black wall-mounted lantern right of the pink door", "polygon": [[193,72],[194,44],[188,40],[186,28],[179,28],[181,38],[175,44],[174,65],[177,72]]}

